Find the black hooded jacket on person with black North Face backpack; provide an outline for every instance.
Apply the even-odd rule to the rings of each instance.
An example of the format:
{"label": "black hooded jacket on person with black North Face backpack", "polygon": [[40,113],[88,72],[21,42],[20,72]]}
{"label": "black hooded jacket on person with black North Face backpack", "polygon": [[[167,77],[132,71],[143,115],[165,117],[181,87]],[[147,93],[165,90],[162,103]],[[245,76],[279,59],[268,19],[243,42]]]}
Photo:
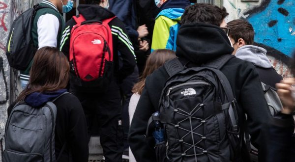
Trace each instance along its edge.
{"label": "black hooded jacket on person with black North Face backpack", "polygon": [[[232,54],[226,33],[217,26],[188,24],[180,27],[177,35],[177,51],[180,62],[187,67],[196,66],[223,54]],[[240,136],[243,139],[245,113],[252,143],[260,151],[261,162],[265,161],[266,123],[270,118],[260,85],[259,76],[252,63],[236,57],[227,62],[221,72],[228,78],[238,104]],[[129,132],[129,145],[138,162],[155,162],[154,139],[145,137],[150,115],[158,111],[158,104],[168,74],[164,67],[154,71],[146,79],[146,85],[138,102]],[[249,162],[249,153],[243,142],[242,159]]]}

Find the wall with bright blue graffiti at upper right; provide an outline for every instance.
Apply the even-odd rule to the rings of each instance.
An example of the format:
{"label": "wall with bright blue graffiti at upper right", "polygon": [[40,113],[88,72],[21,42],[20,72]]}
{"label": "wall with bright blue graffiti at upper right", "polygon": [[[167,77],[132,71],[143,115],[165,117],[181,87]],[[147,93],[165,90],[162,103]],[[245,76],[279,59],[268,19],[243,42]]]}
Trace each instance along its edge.
{"label": "wall with bright blue graffiti at upper right", "polygon": [[224,0],[223,5],[230,13],[227,21],[246,19],[253,25],[255,44],[267,50],[279,74],[290,77],[290,58],[295,49],[295,1]]}

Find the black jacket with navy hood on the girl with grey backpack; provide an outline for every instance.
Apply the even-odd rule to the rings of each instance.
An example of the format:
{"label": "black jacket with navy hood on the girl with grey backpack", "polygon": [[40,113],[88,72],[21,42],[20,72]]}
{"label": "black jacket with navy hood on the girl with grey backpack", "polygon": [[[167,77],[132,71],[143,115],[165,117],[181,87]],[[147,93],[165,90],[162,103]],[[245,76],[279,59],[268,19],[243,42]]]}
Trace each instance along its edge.
{"label": "black jacket with navy hood on the girl with grey backpack", "polygon": [[[53,101],[66,89],[55,92],[34,92],[25,98],[25,102],[34,108],[43,106]],[[16,103],[8,107],[8,116]],[[57,107],[57,118],[55,127],[55,153],[59,157],[62,146],[66,143],[65,149],[60,155],[59,162],[88,162],[88,132],[87,123],[83,108],[72,94],[60,96],[54,104]]]}

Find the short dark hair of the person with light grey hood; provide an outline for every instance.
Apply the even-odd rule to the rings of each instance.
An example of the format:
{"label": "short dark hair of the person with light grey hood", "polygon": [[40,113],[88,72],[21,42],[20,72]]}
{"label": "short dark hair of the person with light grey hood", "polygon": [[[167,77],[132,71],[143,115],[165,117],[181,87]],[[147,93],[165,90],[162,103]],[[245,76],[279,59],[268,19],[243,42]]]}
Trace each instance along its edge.
{"label": "short dark hair of the person with light grey hood", "polygon": [[239,38],[242,38],[246,45],[253,45],[254,43],[254,29],[252,25],[245,20],[233,20],[227,23],[227,27],[230,28],[230,37],[236,42]]}

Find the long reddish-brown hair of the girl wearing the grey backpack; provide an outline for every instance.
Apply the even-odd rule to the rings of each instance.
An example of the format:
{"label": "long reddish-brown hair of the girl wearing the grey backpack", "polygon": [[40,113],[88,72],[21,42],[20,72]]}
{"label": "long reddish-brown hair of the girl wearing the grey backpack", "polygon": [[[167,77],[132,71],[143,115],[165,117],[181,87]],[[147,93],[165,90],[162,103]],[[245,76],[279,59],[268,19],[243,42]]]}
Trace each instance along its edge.
{"label": "long reddish-brown hair of the girl wearing the grey backpack", "polygon": [[24,101],[26,96],[33,92],[50,92],[65,88],[69,81],[69,69],[66,56],[57,48],[39,49],[33,58],[29,83],[16,101]]}

